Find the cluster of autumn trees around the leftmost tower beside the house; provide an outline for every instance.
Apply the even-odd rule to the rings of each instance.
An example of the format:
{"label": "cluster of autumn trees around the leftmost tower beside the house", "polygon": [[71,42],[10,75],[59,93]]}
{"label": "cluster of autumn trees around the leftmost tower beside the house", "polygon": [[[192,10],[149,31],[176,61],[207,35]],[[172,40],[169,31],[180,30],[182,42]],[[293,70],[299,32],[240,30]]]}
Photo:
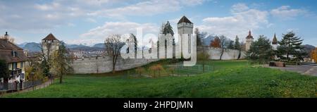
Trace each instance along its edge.
{"label": "cluster of autumn trees around the leftmost tower beside the house", "polygon": [[51,47],[53,47],[51,43],[40,43],[41,53],[29,58],[29,67],[25,70],[27,80],[59,77],[59,82],[62,83],[63,75],[73,73],[71,63],[74,56],[70,54],[66,44],[61,42],[58,45],[58,50],[51,49]]}

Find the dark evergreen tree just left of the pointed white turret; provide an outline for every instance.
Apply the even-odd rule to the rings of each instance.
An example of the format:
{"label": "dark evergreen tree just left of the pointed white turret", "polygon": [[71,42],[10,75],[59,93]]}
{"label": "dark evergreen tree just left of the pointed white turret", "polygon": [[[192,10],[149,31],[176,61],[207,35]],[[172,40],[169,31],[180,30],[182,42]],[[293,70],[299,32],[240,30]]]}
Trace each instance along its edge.
{"label": "dark evergreen tree just left of the pointed white turret", "polygon": [[273,56],[273,50],[269,39],[260,35],[259,39],[253,42],[247,51],[247,58],[251,61],[266,63]]}

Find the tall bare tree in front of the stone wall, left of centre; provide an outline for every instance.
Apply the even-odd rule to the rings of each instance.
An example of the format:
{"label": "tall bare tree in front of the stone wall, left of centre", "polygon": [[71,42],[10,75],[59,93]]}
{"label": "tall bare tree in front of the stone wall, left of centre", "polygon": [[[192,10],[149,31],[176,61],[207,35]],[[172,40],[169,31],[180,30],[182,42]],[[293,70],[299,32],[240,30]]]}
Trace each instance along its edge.
{"label": "tall bare tree in front of the stone wall, left of centre", "polygon": [[118,56],[120,55],[120,51],[124,45],[123,42],[120,42],[120,35],[111,35],[104,42],[106,46],[107,55],[112,58],[112,72],[116,73],[116,63],[118,60]]}

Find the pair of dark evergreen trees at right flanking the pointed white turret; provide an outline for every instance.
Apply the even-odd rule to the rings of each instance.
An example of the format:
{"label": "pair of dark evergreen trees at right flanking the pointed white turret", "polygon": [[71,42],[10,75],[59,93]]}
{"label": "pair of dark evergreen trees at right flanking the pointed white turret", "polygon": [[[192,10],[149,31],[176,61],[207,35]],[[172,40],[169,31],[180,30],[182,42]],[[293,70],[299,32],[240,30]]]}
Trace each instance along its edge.
{"label": "pair of dark evergreen trees at right flanking the pointed white turret", "polygon": [[302,41],[300,37],[297,37],[294,32],[287,32],[287,34],[282,35],[282,39],[278,42],[277,51],[273,51],[271,46],[271,41],[260,35],[259,39],[253,42],[250,46],[249,51],[247,51],[247,58],[251,61],[266,63],[272,61],[277,56],[279,61],[284,61],[287,63],[297,63],[303,60],[303,56],[306,54],[302,49]]}

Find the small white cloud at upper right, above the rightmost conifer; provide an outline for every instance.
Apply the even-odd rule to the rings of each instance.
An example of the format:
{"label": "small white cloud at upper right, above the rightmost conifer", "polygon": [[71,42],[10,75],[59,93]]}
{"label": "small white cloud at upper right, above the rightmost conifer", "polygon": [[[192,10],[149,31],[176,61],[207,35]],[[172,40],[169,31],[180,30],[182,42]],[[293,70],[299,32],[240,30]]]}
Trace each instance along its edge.
{"label": "small white cloud at upper right, above the rightmost conifer", "polygon": [[279,8],[272,9],[271,14],[274,17],[291,19],[299,15],[306,15],[308,11],[305,9],[292,9],[290,6],[280,6]]}

